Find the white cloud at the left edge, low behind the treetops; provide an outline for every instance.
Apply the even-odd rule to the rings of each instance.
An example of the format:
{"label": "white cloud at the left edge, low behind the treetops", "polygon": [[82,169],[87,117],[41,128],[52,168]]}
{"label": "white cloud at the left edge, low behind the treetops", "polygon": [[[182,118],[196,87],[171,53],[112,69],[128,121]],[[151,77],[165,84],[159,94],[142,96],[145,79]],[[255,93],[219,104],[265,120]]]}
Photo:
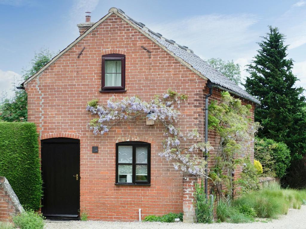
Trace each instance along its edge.
{"label": "white cloud at the left edge, low behind the treetops", "polygon": [[0,69],[0,93],[6,92],[10,97],[13,95],[13,83],[20,81],[21,75],[13,71],[2,71]]}

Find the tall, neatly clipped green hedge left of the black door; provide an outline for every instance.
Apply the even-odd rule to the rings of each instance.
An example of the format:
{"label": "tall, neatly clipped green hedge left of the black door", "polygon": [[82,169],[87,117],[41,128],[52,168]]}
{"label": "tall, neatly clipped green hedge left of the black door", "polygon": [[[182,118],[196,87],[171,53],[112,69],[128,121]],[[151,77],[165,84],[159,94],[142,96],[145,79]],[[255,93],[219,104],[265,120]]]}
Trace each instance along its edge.
{"label": "tall, neatly clipped green hedge left of the black door", "polygon": [[0,122],[0,176],[7,178],[21,205],[39,209],[42,179],[34,123]]}

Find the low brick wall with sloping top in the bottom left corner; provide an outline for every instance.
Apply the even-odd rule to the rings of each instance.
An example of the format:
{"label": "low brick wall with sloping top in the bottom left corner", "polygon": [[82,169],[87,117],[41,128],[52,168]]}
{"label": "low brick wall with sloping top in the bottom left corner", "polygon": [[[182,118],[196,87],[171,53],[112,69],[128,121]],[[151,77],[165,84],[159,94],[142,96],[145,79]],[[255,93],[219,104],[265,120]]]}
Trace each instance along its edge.
{"label": "low brick wall with sloping top in the bottom left corner", "polygon": [[4,176],[0,176],[0,221],[11,221],[12,217],[24,211],[18,197]]}

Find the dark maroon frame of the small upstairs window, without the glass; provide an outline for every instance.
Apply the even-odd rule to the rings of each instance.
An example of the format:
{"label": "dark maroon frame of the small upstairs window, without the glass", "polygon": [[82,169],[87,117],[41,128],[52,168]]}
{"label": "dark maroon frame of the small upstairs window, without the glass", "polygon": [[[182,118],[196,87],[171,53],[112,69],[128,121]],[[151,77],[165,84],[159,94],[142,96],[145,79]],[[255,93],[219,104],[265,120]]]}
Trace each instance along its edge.
{"label": "dark maroon frame of the small upstairs window, without the glass", "polygon": [[[105,60],[121,60],[121,86],[105,86]],[[125,55],[123,54],[106,54],[102,56],[102,76],[101,76],[101,91],[100,92],[125,92]]]}

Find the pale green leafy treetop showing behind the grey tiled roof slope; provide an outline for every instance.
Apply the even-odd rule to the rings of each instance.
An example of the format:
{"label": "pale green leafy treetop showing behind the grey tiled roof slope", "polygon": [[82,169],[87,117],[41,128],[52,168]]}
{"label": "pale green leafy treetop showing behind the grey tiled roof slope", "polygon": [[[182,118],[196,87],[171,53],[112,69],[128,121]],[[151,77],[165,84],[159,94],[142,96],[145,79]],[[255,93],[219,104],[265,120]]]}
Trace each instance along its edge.
{"label": "pale green leafy treetop showing behind the grey tiled roof slope", "polygon": [[234,61],[224,61],[220,58],[211,58],[207,63],[214,67],[237,85],[241,84],[240,65],[234,64]]}

